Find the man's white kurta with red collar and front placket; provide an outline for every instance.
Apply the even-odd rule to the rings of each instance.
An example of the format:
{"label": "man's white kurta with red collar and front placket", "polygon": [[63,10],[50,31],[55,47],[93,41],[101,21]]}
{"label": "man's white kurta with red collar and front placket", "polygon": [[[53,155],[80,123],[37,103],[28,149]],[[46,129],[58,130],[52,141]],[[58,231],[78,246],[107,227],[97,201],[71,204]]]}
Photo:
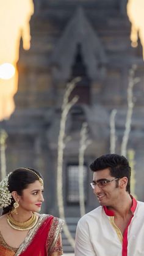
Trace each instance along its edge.
{"label": "man's white kurta with red collar and front placket", "polygon": [[144,203],[133,199],[131,211],[134,215],[123,241],[112,225],[112,211],[100,206],[85,214],[77,224],[75,256],[144,255]]}

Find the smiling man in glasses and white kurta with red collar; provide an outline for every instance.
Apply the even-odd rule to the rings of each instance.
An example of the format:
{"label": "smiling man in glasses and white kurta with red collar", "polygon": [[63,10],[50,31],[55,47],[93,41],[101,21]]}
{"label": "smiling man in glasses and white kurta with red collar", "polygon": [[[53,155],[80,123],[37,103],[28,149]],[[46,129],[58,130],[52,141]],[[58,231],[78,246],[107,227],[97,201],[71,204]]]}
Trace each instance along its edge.
{"label": "smiling man in glasses and white kurta with red collar", "polygon": [[144,203],[130,195],[128,160],[104,155],[90,169],[91,186],[101,206],[78,222],[75,256],[144,255]]}

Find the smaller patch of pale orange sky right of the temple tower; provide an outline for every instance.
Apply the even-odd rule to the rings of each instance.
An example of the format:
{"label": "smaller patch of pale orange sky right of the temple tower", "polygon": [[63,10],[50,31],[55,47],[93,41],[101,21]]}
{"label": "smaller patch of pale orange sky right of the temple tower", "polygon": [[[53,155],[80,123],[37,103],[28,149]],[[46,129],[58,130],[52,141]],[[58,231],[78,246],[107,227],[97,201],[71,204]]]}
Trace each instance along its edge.
{"label": "smaller patch of pale orange sky right of the temple tower", "polygon": [[144,59],[144,0],[129,0],[127,13],[131,21],[131,45],[137,47],[137,41],[140,38]]}

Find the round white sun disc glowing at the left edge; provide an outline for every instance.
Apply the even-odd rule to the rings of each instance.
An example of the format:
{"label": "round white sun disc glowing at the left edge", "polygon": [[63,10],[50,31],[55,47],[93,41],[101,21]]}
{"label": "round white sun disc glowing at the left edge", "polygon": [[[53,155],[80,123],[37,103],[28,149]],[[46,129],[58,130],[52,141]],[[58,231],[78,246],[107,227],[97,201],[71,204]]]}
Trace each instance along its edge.
{"label": "round white sun disc glowing at the left edge", "polygon": [[10,79],[15,75],[15,67],[10,63],[0,65],[0,78]]}

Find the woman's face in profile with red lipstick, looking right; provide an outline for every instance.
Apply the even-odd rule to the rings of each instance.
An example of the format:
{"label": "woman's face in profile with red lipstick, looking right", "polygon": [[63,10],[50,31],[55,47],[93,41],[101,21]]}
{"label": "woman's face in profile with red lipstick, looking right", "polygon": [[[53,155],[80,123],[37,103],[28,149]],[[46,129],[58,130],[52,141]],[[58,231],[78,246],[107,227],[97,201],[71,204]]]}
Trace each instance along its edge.
{"label": "woman's face in profile with red lipstick, looking right", "polygon": [[41,210],[41,203],[43,199],[43,186],[40,181],[36,180],[34,183],[29,184],[29,186],[23,190],[22,196],[18,196],[19,199],[19,209],[26,211],[36,211]]}

